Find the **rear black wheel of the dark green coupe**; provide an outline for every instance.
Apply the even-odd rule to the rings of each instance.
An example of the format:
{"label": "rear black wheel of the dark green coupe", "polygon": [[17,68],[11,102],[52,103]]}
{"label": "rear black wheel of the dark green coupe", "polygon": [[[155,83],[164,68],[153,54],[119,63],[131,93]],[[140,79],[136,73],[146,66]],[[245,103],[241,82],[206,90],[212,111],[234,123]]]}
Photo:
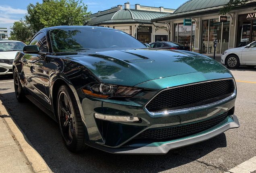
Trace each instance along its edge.
{"label": "rear black wheel of the dark green coupe", "polygon": [[19,102],[25,101],[25,99],[26,99],[25,93],[21,86],[21,82],[19,80],[18,72],[16,69],[14,69],[14,71],[13,71],[13,82],[14,82],[14,91],[15,91],[16,99]]}

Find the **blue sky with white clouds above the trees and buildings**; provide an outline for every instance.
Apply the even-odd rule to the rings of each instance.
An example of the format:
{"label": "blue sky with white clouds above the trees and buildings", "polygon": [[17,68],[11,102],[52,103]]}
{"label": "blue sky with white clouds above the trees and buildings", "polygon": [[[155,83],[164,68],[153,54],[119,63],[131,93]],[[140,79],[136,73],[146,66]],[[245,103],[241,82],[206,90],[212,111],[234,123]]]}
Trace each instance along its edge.
{"label": "blue sky with white clouds above the trees and buildings", "polygon": [[[130,0],[130,5],[140,4],[140,6],[151,6],[177,9],[180,5],[188,0]],[[0,28],[8,28],[8,36],[10,36],[10,27],[13,26],[13,22],[20,19],[25,20],[24,16],[27,13],[27,6],[36,4],[36,2],[42,3],[42,0],[0,0]],[[87,4],[87,12],[91,11],[97,13],[98,11],[107,10],[113,6],[124,5],[127,1],[120,0],[82,0],[84,4]]]}

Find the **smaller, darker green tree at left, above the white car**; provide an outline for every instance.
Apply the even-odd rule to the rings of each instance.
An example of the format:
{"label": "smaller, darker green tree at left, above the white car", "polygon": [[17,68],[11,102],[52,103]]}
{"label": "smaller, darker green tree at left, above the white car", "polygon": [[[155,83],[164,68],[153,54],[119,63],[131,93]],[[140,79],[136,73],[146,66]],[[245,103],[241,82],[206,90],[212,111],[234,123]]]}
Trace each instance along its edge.
{"label": "smaller, darker green tree at left, above the white car", "polygon": [[34,33],[31,32],[29,25],[27,25],[23,20],[14,22],[10,29],[10,40],[18,40],[28,44],[29,40],[34,35]]}

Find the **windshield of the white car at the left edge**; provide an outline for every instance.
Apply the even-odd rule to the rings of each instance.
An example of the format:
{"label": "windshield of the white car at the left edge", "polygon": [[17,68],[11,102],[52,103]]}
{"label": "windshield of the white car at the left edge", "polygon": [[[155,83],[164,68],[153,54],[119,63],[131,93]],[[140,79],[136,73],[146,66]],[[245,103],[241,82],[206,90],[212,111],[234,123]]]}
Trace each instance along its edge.
{"label": "windshield of the white car at the left edge", "polygon": [[23,42],[0,42],[0,52],[21,51],[24,46]]}

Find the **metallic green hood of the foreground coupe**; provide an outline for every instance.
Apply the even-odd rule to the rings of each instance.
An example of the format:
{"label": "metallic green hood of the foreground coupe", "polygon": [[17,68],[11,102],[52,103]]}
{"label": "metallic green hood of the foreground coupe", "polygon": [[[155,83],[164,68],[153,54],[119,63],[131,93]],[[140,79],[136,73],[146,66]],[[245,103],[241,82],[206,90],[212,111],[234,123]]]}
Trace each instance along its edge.
{"label": "metallic green hood of the foreground coupe", "polygon": [[[86,56],[83,54],[80,52],[72,58],[87,66],[101,81],[111,84],[135,86],[188,73],[229,73],[223,65],[207,56],[182,50],[105,50],[94,53],[87,51]],[[202,80],[210,79],[209,76],[209,79]]]}

